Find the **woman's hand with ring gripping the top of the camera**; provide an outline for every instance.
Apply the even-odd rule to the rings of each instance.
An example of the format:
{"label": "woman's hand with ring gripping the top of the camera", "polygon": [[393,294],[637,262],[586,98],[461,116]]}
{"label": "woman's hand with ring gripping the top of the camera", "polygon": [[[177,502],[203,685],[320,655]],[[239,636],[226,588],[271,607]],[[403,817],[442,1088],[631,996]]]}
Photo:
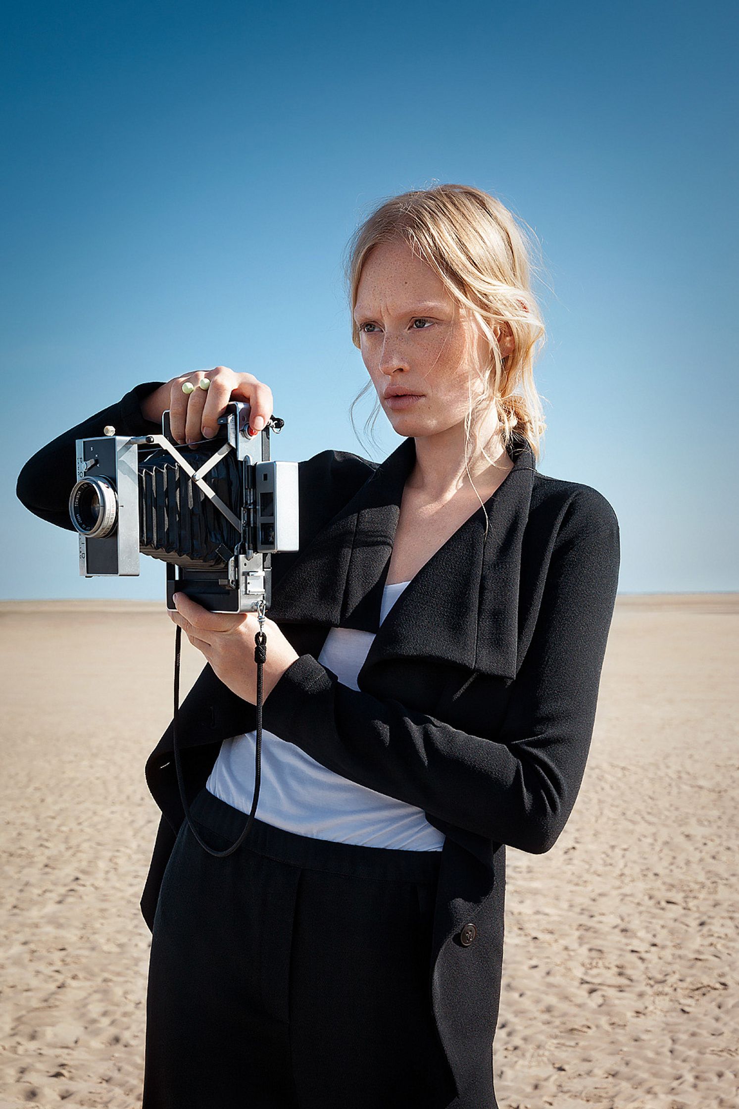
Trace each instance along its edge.
{"label": "woman's hand with ring gripping the top of the camera", "polygon": [[[208,380],[206,389],[199,383]],[[189,381],[194,389],[185,394],[182,387]],[[249,405],[249,430],[257,435],[273,414],[273,395],[268,385],[257,381],[253,374],[235,374],[228,366],[214,369],[195,369],[165,381],[150,394],[141,405],[144,419],[162,423],[162,415],[170,410],[170,429],[179,442],[197,442],[217,435],[218,417],[223,416],[230,400],[246,400]]]}

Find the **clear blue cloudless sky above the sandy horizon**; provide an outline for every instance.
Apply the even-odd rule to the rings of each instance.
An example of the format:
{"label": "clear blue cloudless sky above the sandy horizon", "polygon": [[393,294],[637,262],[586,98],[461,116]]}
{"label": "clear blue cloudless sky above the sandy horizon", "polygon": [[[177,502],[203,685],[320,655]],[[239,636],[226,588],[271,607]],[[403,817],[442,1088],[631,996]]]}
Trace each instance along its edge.
{"label": "clear blue cloudless sky above the sandy horizon", "polygon": [[[359,442],[341,255],[381,197],[485,189],[537,236],[542,472],[599,489],[620,591],[736,590],[736,6],[38,3],[3,17],[0,597],[80,579],[14,496],[133,385],[266,380],[278,457]],[[359,409],[359,424],[369,413]]]}

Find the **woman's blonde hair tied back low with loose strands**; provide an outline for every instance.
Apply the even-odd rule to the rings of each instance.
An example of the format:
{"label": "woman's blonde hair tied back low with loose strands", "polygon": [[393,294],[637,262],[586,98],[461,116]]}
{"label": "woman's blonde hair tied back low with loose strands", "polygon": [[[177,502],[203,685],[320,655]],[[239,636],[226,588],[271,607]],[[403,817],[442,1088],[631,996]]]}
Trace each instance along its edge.
{"label": "woman's blonde hair tied back low with loose strands", "polygon": [[[491,406],[496,410],[503,446],[507,448],[515,428],[538,459],[546,421],[533,366],[545,342],[545,328],[530,284],[532,248],[527,236],[499,200],[470,185],[435,185],[382,201],[351,236],[345,258],[351,338],[357,347],[360,339],[353,312],[362,267],[374,246],[398,238],[437,272],[458,306],[466,309],[487,339],[489,357],[475,367],[482,393],[474,398],[470,389],[464,420],[468,472],[474,454],[487,458],[485,444],[480,447],[478,442],[476,427]],[[493,332],[496,324],[502,325],[501,334],[507,325],[515,343],[505,358]],[[352,424],[353,407],[371,386],[368,381],[355,398]],[[366,430],[371,430],[379,413],[378,401]]]}

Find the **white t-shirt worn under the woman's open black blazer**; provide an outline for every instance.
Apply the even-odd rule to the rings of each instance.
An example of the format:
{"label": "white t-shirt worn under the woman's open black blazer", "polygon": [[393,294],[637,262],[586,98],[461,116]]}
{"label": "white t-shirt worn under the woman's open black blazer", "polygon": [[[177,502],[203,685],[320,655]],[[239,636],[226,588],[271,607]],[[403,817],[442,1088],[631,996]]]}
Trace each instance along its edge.
{"label": "white t-shirt worn under the woman's open black blazer", "polygon": [[[400,581],[384,587],[380,623],[406,586]],[[357,690],[357,675],[373,639],[369,631],[331,628],[318,661],[343,685]],[[255,744],[256,732],[224,740],[206,785],[209,793],[247,814],[254,797]],[[422,808],[335,774],[266,729],[255,816],[314,840],[403,851],[441,851],[444,844],[443,833],[429,824]]]}

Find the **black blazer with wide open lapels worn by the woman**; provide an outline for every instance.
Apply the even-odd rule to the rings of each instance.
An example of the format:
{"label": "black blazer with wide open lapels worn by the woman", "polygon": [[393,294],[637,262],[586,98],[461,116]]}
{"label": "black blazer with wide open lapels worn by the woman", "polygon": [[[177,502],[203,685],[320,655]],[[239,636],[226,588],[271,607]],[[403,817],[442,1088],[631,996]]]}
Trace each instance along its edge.
{"label": "black blazer with wide open lapels worn by the woman", "polygon": [[[137,386],[23,467],[18,496],[71,528],[74,439],[155,429]],[[419,570],[379,627],[413,439],[383,462],[326,450],[300,464],[300,550],[274,556],[273,606],[300,655],[264,706],[264,726],[345,777],[425,812],[445,834],[429,985],[458,1093],[490,1051],[503,960],[505,848],[542,854],[583,779],[614,610],[619,531],[596,489],[545,477],[526,440],[486,502]],[[359,691],[317,662],[332,627],[377,632]],[[186,790],[205,784],[222,741],[254,706],[206,665],[182,705]],[[183,821],[172,725],[146,763],[162,811],[142,897],[152,926]],[[257,816],[258,807],[257,807]]]}

